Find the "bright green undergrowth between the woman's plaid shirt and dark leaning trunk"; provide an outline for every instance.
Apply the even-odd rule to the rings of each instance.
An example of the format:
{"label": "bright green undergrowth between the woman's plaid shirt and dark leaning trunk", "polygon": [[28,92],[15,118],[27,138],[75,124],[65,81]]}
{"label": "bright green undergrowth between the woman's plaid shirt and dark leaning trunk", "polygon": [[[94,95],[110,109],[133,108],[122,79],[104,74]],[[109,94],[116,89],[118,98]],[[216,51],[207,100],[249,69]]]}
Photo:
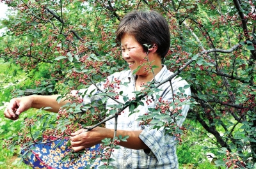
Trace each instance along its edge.
{"label": "bright green undergrowth between the woman's plaid shirt and dark leaning trunk", "polygon": [[203,133],[202,126],[194,120],[186,119],[183,126],[189,130],[182,136],[182,143],[177,145],[179,168],[216,168],[214,162],[211,163],[212,159],[207,158],[207,153],[216,154],[217,152],[216,145],[211,142],[212,138]]}

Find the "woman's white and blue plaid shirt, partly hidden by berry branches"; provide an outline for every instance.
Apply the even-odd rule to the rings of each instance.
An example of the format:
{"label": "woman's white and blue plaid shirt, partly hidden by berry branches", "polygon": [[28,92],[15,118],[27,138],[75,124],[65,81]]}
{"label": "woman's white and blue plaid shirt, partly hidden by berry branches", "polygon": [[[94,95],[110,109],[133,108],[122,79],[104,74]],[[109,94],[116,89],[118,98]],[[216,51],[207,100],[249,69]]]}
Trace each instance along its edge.
{"label": "woman's white and blue plaid shirt, partly hidden by berry branches", "polygon": [[[170,77],[173,73],[167,70],[166,66],[163,65],[163,68],[156,75],[156,82],[161,82],[162,80]],[[133,93],[136,91],[135,88],[135,80],[136,76],[132,75],[131,70],[121,71],[118,73],[114,73],[113,75],[108,77],[110,82],[115,80],[121,80],[122,83],[127,83],[127,85],[120,85],[120,88],[116,88],[116,92],[123,91],[123,96],[128,96],[129,99],[135,96]],[[97,86],[104,90],[104,84],[106,82],[101,82],[97,84]],[[179,87],[184,87],[184,85],[188,84],[185,80],[181,78],[172,79],[172,87],[174,93],[177,92]],[[88,92],[93,91],[95,86],[91,85],[88,88]],[[172,89],[170,87],[170,82],[166,82],[161,85],[159,89],[162,89],[158,94],[162,96],[163,100],[172,101]],[[187,95],[190,95],[190,89],[185,90]],[[94,94],[92,97],[84,96],[84,104],[88,104],[93,100],[99,100],[102,96],[97,96],[97,89],[93,91]],[[118,99],[118,101],[122,101],[122,97]],[[157,99],[154,99],[157,100]],[[115,105],[116,102],[113,99],[108,99],[106,101],[106,108],[108,105]],[[139,106],[136,110],[139,112],[129,115],[129,108],[124,110],[124,113],[118,116],[118,124],[117,129],[135,131],[135,130],[143,130],[140,134],[140,139],[150,148],[150,152],[146,153],[143,150],[134,150],[127,149],[125,147],[120,146],[120,149],[116,149],[111,154],[111,158],[115,159],[115,161],[111,162],[111,165],[114,168],[179,168],[178,159],[176,155],[176,143],[175,137],[171,135],[164,135],[164,129],[160,128],[149,129],[150,126],[139,125],[140,122],[136,121],[139,115],[143,115],[148,112],[148,108],[156,107],[156,103],[152,101],[149,105],[146,103],[144,106]],[[184,105],[182,107],[182,115],[186,117],[189,110],[189,105]],[[185,119],[185,118],[184,118]],[[181,119],[177,122],[179,126],[182,125],[184,119]],[[106,122],[106,128],[115,128],[115,119],[111,119]],[[136,144],[136,143],[134,143]]]}

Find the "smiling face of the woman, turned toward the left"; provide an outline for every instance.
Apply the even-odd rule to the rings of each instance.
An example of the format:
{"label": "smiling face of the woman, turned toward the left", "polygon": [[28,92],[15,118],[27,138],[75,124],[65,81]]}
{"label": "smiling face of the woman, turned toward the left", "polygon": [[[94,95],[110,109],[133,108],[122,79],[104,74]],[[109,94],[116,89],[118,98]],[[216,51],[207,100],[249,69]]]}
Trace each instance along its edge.
{"label": "smiling face of the woman, turned toward the left", "polygon": [[[147,62],[147,54],[143,51],[143,47],[131,34],[124,34],[121,38],[122,57],[125,59],[129,68],[133,72],[141,66],[141,64]],[[147,75],[145,66],[142,66],[139,71],[136,72],[138,76]]]}

